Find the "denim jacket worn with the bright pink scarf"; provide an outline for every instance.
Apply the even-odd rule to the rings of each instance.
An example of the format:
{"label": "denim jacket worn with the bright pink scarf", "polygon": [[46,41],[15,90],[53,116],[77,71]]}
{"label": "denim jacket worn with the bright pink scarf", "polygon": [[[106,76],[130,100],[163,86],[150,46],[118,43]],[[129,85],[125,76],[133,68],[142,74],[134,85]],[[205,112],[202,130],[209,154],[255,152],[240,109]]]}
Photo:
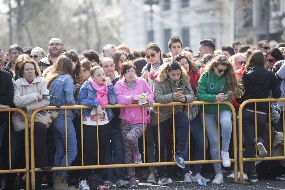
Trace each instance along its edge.
{"label": "denim jacket worn with the bright pink scarf", "polygon": [[[117,97],[113,84],[109,84],[107,87],[108,87],[109,104],[111,105],[117,104]],[[85,81],[79,91],[78,103],[80,105],[95,107],[97,109],[100,103],[95,101],[96,94],[97,91],[93,88],[92,84],[89,81]],[[82,114],[88,117],[90,116],[91,111],[92,109],[82,109]],[[106,112],[108,120],[111,121],[114,117],[112,109],[106,108]]]}

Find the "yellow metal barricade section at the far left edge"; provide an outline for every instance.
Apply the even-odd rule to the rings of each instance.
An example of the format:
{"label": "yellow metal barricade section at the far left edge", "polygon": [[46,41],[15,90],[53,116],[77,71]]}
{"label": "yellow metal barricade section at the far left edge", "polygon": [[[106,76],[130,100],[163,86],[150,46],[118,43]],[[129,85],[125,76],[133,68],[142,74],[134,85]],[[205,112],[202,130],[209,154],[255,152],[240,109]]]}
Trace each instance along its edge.
{"label": "yellow metal barricade section at the far left edge", "polygon": [[[9,130],[9,169],[0,170],[1,174],[4,173],[26,173],[26,189],[30,189],[30,173],[29,173],[29,128],[28,128],[28,117],[25,112],[19,108],[6,108],[0,109],[0,112],[9,112],[8,113],[8,130]],[[25,120],[25,168],[23,169],[12,169],[11,168],[11,112],[19,112],[23,115]]]}

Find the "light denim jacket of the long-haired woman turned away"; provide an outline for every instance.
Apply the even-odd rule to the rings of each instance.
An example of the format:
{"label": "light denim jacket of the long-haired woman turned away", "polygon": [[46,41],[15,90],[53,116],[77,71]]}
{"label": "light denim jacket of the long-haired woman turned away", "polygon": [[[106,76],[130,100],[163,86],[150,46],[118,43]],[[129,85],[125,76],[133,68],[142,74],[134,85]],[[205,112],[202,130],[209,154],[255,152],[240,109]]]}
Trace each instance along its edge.
{"label": "light denim jacket of the long-haired woman turned away", "polygon": [[[62,105],[76,105],[74,100],[74,89],[73,89],[73,78],[70,75],[58,75],[48,87],[50,91],[50,95],[53,95],[62,101]],[[60,105],[60,102],[50,97],[50,100],[53,101],[55,104]],[[50,106],[52,104],[50,103]],[[56,110],[59,114],[65,114],[65,110]],[[76,112],[76,109],[67,109],[66,115],[69,117],[73,117],[73,112]]]}

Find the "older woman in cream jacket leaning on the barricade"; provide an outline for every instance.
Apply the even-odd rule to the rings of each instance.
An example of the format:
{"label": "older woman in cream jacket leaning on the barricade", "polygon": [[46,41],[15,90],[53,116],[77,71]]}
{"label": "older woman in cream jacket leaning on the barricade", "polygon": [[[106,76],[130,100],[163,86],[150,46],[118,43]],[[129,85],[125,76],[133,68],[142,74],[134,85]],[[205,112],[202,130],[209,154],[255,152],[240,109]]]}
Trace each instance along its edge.
{"label": "older woman in cream jacket leaning on the barricade", "polygon": [[[30,57],[24,57],[21,63],[21,67],[18,70],[19,79],[14,84],[14,99],[13,103],[16,107],[23,109],[25,112],[31,112],[36,109],[48,106],[49,101],[42,98],[42,94],[48,95],[48,89],[46,87],[46,81],[39,76],[37,70],[37,63],[30,59]],[[19,64],[19,63],[18,63]],[[28,118],[30,120],[30,118]],[[13,117],[14,130],[22,131],[25,130],[25,123],[23,116],[14,112]],[[11,137],[13,136],[11,132]],[[21,136],[21,135],[20,135]],[[20,137],[19,136],[19,137]],[[16,137],[16,136],[15,136]],[[15,138],[14,137],[14,138]],[[21,136],[22,137],[22,136]],[[14,139],[13,138],[13,139]],[[15,146],[21,147],[22,138],[13,140]],[[19,142],[19,144],[17,144]],[[20,150],[13,148],[14,145],[11,143],[11,162],[15,157],[19,156]],[[15,152],[14,152],[15,151]],[[17,152],[16,152],[17,151]],[[48,164],[47,151],[46,151],[46,126],[42,123],[34,123],[34,152],[35,152],[35,167],[40,167],[44,170],[52,168]],[[17,156],[16,156],[17,155]],[[13,163],[11,163],[13,164]],[[36,187],[40,188],[43,172],[36,172]]]}

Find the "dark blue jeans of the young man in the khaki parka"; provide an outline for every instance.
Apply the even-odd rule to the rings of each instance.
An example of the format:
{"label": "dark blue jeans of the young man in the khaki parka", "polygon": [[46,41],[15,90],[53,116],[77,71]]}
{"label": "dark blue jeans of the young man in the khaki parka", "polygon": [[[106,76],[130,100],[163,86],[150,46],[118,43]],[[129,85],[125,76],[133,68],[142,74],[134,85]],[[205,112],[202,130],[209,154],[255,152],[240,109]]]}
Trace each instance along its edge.
{"label": "dark blue jeans of the young man in the khaki parka", "polygon": [[[189,121],[182,112],[177,112],[174,115],[175,120],[175,135],[178,143],[176,144],[176,152],[183,152],[188,137]],[[166,141],[167,126],[173,127],[173,118],[170,117],[159,124],[160,128],[160,162],[164,162],[164,147]],[[154,158],[158,162],[158,125],[151,127],[154,138]],[[165,176],[165,166],[157,166],[157,173],[160,177]]]}

